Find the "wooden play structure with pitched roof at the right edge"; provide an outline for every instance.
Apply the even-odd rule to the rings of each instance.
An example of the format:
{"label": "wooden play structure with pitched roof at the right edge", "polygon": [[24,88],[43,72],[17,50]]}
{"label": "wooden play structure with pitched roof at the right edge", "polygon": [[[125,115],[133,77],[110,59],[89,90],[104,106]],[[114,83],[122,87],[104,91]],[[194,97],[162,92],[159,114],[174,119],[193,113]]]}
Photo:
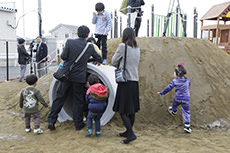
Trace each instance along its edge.
{"label": "wooden play structure with pitched roof at the right edge", "polygon": [[[230,1],[214,5],[200,20],[201,39],[204,38],[203,32],[208,31],[207,39],[229,53],[230,24],[227,24],[227,22],[230,21]],[[204,20],[217,21],[217,24],[204,25]]]}

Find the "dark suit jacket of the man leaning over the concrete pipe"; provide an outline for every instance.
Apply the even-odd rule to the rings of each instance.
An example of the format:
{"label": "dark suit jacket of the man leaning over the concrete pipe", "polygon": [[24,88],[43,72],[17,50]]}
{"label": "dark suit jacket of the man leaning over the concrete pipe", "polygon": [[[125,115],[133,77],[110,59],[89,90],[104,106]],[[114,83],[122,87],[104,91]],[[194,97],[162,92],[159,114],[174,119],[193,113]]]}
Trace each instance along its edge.
{"label": "dark suit jacket of the man leaning over the concrete pipe", "polygon": [[[65,48],[61,54],[61,58],[65,61],[63,68],[69,68],[77,57],[85,48],[87,42],[84,38],[68,39]],[[86,83],[87,62],[90,56],[93,56],[96,61],[102,62],[102,58],[97,54],[93,45],[89,45],[86,52],[79,59],[76,66],[72,69],[69,81],[76,83]]]}

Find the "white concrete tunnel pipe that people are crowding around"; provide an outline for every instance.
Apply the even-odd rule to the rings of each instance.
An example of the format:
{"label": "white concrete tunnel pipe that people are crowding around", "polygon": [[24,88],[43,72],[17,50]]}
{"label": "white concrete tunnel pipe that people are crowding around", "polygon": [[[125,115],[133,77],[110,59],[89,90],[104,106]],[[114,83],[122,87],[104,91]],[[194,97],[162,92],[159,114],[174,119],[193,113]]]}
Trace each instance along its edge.
{"label": "white concrete tunnel pipe that people are crowding around", "polygon": [[[95,74],[99,77],[101,82],[110,90],[110,95],[108,98],[108,105],[106,107],[106,110],[104,114],[101,117],[101,125],[105,125],[108,123],[113,115],[114,111],[112,110],[115,96],[116,96],[116,91],[117,91],[117,83],[115,81],[115,73],[114,73],[115,67],[109,66],[109,65],[94,65],[91,63],[88,63],[87,65],[87,72],[90,74]],[[54,78],[52,80],[52,83],[50,85],[50,90],[49,90],[49,99],[50,99],[50,105],[52,106],[53,99],[56,96],[55,89],[57,87],[58,81]],[[64,122],[67,120],[73,120],[73,111],[72,111],[72,95],[69,94],[68,97],[65,100],[64,106],[61,110],[61,112],[58,114],[58,121],[59,122]]]}

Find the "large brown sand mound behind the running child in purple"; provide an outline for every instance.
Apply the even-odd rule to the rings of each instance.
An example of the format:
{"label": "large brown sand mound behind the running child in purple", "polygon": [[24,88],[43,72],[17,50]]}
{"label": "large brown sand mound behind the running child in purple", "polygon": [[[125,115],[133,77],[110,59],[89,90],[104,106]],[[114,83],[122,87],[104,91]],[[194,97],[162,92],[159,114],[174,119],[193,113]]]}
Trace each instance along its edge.
{"label": "large brown sand mound behind the running child in purple", "polygon": [[[230,56],[207,40],[193,38],[138,38],[141,48],[139,64],[141,111],[138,122],[153,122],[157,126],[182,123],[181,112],[175,120],[167,108],[174,90],[166,96],[157,95],[173,79],[180,62],[186,63],[191,81],[191,122],[203,127],[229,122],[230,116]],[[120,39],[110,40],[109,57]],[[109,60],[110,62],[110,60]],[[214,124],[212,124],[214,122]],[[223,123],[223,124],[222,124]],[[217,124],[219,126],[219,124]]]}

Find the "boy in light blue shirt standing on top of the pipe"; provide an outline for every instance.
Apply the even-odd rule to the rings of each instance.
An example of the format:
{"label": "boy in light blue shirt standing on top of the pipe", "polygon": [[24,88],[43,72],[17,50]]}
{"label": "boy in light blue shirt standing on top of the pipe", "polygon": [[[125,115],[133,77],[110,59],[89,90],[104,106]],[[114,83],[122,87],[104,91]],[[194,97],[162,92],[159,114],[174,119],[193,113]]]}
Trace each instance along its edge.
{"label": "boy in light blue shirt standing on top of the pipe", "polygon": [[93,20],[92,23],[96,24],[95,28],[95,36],[98,38],[97,40],[97,46],[100,49],[100,46],[102,44],[102,56],[103,56],[103,64],[106,64],[106,58],[107,58],[107,35],[108,32],[112,28],[112,21],[110,14],[104,10],[105,6],[103,3],[97,3],[95,5],[95,10],[97,11],[97,14],[93,13]]}

